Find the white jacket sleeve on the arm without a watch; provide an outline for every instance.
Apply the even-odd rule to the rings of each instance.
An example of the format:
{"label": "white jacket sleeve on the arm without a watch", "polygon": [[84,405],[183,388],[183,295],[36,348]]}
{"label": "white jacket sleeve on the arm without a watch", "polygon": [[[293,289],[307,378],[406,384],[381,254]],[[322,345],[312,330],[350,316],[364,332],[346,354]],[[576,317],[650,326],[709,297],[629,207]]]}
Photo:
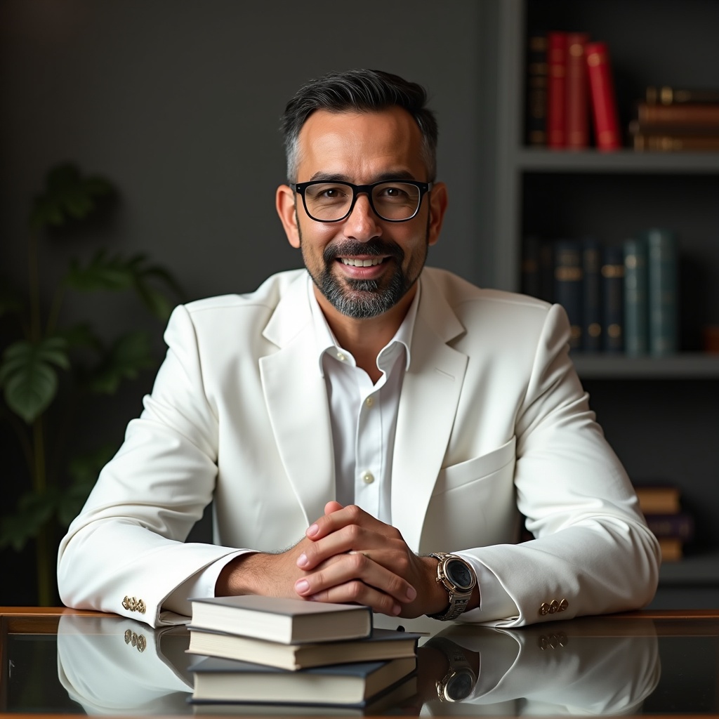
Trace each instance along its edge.
{"label": "white jacket sleeve on the arm without a watch", "polygon": [[165,332],[168,353],[142,415],[102,470],[58,554],[66,605],[114,612],[152,626],[186,621],[162,612],[165,597],[237,548],[184,544],[210,502],[218,421],[186,308]]}

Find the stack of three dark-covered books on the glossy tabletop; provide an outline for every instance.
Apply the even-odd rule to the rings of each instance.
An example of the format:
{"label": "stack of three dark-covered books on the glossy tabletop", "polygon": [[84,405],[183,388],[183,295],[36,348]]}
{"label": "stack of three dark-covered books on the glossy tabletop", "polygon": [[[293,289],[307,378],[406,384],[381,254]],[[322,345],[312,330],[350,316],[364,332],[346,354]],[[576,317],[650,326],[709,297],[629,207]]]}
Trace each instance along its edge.
{"label": "stack of three dark-covered books on the glossy tabletop", "polygon": [[416,694],[418,635],[372,628],[370,608],[254,595],[191,601],[188,651],[202,655],[190,667],[193,702],[379,711]]}

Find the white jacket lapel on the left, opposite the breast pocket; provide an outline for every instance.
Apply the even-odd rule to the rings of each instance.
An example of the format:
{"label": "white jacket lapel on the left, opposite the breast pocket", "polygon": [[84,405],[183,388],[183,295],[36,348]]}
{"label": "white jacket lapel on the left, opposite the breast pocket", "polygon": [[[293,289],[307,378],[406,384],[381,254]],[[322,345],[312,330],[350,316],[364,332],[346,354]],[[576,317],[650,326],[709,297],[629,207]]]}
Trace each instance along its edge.
{"label": "white jacket lapel on the left, opposite the breast pocket", "polygon": [[267,323],[263,334],[280,349],[260,358],[260,375],[275,443],[309,525],[324,514],[335,487],[327,390],[306,282],[301,275]]}

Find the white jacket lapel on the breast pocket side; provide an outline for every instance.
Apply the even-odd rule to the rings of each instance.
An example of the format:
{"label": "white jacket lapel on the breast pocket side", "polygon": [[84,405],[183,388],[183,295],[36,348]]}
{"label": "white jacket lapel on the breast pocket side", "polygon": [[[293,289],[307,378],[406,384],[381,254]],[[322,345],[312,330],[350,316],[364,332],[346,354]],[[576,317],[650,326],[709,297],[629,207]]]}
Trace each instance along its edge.
{"label": "white jacket lapel on the breast pocket side", "polygon": [[415,551],[467,369],[467,355],[446,344],[464,327],[434,283],[425,281],[426,275],[412,336],[411,366],[400,396],[392,464],[392,523]]}

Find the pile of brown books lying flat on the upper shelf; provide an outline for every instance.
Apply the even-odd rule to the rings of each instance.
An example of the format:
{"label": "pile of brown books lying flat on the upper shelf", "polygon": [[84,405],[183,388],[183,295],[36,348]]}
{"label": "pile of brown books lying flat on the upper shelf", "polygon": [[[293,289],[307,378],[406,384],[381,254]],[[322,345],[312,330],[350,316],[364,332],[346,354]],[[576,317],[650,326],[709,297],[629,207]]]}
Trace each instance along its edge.
{"label": "pile of brown books lying flat on the upper shelf", "polygon": [[635,150],[719,150],[719,89],[646,88],[629,134]]}

